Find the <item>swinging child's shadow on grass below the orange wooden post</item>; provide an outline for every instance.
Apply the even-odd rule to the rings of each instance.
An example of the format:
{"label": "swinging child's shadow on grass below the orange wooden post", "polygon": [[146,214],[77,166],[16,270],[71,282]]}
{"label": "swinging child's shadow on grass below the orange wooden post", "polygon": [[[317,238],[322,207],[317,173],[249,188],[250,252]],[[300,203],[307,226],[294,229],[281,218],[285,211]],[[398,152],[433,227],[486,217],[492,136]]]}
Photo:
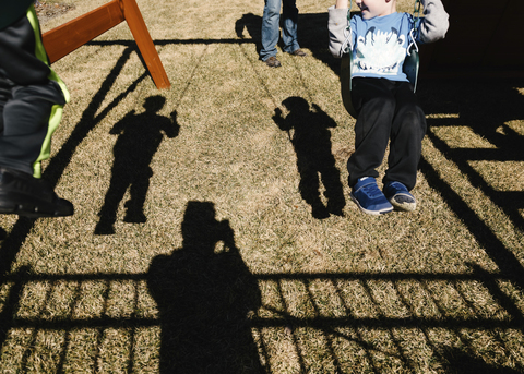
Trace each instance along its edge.
{"label": "swinging child's shadow on grass below the orange wooden post", "polygon": [[111,169],[111,181],[106,193],[104,206],[98,216],[95,234],[115,233],[114,225],[118,206],[126,191],[130,188],[131,198],[126,203],[126,222],[145,222],[144,202],[150,188],[153,170],[151,160],[164,138],[176,137],[179,132],[177,112],[171,119],[159,116],[166,99],[151,96],[145,99],[143,113],[131,110],[110,130],[110,134],[119,135],[114,147],[115,161]]}

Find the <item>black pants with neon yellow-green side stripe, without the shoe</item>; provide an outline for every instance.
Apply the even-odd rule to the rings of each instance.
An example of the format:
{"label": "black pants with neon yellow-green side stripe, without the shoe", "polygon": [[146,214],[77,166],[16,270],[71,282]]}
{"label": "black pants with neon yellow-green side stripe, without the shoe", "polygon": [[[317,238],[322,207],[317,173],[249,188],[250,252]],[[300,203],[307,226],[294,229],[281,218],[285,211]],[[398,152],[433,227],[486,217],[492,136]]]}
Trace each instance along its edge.
{"label": "black pants with neon yellow-green side stripe, without the shoe", "polygon": [[0,166],[39,178],[67,101],[59,82],[31,5],[0,29]]}

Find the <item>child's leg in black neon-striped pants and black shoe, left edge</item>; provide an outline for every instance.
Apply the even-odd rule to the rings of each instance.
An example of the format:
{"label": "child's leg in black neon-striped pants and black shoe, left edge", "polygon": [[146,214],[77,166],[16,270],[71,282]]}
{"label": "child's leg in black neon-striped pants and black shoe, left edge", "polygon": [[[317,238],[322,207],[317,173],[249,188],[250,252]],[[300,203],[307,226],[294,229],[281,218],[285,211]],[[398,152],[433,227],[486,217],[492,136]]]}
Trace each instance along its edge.
{"label": "child's leg in black neon-striped pants and black shoe, left edge", "polygon": [[0,0],[0,214],[71,216],[41,179],[69,92],[50,68],[34,0]]}

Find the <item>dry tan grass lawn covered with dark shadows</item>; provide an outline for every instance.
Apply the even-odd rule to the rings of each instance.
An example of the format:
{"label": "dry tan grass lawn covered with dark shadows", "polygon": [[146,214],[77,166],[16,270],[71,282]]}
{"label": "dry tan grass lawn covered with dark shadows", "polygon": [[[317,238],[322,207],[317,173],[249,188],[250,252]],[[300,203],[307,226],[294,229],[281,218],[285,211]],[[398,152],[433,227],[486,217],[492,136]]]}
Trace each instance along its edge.
{"label": "dry tan grass lawn covered with dark shadows", "polygon": [[[44,31],[105,1],[66,2]],[[44,178],[76,210],[0,217],[1,373],[524,371],[524,82],[421,82],[419,207],[371,217],[331,1],[273,70],[262,1],[138,3],[171,88],[126,24],[53,64]]]}

